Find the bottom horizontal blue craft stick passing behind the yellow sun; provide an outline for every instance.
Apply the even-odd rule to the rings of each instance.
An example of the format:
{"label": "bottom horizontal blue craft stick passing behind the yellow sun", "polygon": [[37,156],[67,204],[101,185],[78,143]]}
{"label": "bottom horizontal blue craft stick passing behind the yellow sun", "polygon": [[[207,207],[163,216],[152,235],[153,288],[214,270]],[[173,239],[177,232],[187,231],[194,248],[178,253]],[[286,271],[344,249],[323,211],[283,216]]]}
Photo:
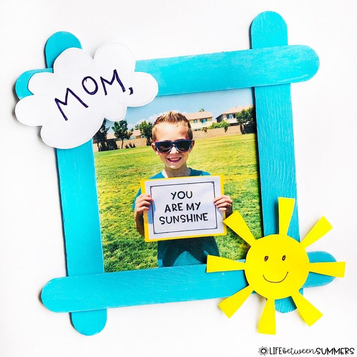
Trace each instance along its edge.
{"label": "bottom horizontal blue craft stick passing behind the yellow sun", "polygon": [[[311,262],[336,261],[325,252],[308,257]],[[333,279],[309,273],[304,287]],[[197,264],[56,278],[45,285],[41,298],[51,311],[70,312],[226,297],[246,285],[242,270],[206,273],[206,264]]]}

